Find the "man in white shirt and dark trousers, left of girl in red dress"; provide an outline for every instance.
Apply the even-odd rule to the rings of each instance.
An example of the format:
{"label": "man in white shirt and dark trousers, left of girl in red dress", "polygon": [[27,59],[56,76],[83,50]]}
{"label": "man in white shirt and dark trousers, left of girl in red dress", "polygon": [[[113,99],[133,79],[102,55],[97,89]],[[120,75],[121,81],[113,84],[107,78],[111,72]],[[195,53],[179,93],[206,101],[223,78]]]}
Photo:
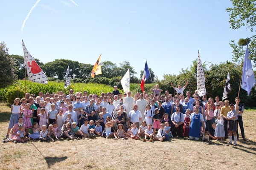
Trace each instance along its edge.
{"label": "man in white shirt and dark trousers, left of girl in red dress", "polygon": [[172,113],[172,135],[179,136],[183,138],[183,123],[184,123],[184,116],[180,112],[180,107],[176,107],[176,112]]}

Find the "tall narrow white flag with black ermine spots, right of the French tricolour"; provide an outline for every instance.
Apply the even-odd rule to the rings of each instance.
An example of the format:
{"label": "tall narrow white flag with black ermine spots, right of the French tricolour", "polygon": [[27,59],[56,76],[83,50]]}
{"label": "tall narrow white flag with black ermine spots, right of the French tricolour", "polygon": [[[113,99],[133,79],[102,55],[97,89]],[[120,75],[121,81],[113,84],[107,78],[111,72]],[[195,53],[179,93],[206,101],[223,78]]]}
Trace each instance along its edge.
{"label": "tall narrow white flag with black ermine spots, right of the French tricolour", "polygon": [[200,59],[199,50],[198,50],[198,65],[197,65],[197,92],[198,92],[198,96],[200,97],[206,94],[204,70],[203,70],[201,59]]}

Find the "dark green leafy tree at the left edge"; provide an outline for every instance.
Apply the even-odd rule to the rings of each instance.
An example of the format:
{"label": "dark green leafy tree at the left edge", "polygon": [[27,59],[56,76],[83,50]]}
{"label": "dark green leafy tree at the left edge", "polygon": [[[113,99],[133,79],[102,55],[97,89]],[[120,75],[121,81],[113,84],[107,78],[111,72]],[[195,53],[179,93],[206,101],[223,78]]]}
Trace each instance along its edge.
{"label": "dark green leafy tree at the left edge", "polygon": [[3,88],[12,84],[16,79],[13,61],[4,42],[0,42],[0,68],[0,88]]}

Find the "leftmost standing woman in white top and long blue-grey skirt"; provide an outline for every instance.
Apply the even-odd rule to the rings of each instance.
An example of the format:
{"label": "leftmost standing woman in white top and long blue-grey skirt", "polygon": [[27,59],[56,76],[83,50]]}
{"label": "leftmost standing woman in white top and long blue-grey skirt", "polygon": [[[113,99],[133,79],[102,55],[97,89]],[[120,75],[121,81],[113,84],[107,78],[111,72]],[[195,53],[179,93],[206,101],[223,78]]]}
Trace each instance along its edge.
{"label": "leftmost standing woman in white top and long blue-grey skirt", "polygon": [[11,131],[11,128],[13,127],[13,125],[15,123],[18,122],[18,119],[20,117],[20,98],[16,98],[14,100],[14,103],[11,106],[11,112],[12,112],[12,115],[10,117],[10,122],[9,122],[9,127],[8,127],[8,130],[7,130],[7,135],[4,139],[9,138],[9,133]]}

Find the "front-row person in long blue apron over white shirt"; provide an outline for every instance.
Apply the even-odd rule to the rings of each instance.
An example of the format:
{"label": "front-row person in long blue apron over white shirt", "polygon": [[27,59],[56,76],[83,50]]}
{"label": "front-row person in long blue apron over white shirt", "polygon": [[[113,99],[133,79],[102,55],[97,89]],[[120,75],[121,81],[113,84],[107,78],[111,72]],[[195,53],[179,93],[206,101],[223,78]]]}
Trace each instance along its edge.
{"label": "front-row person in long blue apron over white shirt", "polygon": [[199,106],[196,105],[195,112],[192,113],[192,119],[190,119],[189,139],[191,140],[199,140],[201,134],[201,126],[203,126],[204,131],[204,121],[201,121],[201,117],[203,118],[203,115],[199,113]]}

